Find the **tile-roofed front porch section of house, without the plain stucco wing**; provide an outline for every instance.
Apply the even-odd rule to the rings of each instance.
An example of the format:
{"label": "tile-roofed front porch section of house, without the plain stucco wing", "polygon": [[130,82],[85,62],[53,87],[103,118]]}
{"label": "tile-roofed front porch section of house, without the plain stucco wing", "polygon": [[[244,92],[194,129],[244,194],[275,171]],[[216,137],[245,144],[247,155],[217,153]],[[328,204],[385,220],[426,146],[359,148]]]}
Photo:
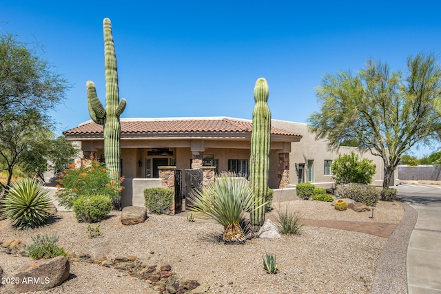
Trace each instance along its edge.
{"label": "tile-roofed front porch section of house, without the plain stucco wing", "polygon": [[[238,118],[121,118],[121,162],[125,178],[158,178],[161,166],[247,175],[251,120]],[[81,142],[84,156],[103,158],[103,126],[92,120],[63,132]],[[289,184],[291,144],[302,136],[271,127],[270,187]]]}

